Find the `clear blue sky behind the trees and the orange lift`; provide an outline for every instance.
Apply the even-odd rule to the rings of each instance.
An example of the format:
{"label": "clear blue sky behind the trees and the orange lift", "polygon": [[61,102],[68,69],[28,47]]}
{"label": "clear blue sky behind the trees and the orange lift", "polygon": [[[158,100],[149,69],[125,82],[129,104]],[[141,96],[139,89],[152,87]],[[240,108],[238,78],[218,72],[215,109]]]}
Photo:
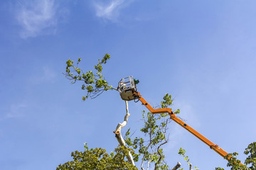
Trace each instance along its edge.
{"label": "clear blue sky behind the trees and the orange lift", "polygon": [[[172,94],[188,125],[245,159],[256,138],[255,7],[238,0],[1,1],[1,169],[55,169],[84,142],[107,152],[117,147],[112,131],[125,115],[119,94],[83,102],[80,84],[63,76],[66,60],[80,57],[90,70],[106,52],[110,84],[133,75],[152,106]],[[144,109],[129,102],[126,129],[139,132]],[[225,167],[174,122],[169,130],[170,166],[188,169],[177,154],[183,147],[199,169]]]}

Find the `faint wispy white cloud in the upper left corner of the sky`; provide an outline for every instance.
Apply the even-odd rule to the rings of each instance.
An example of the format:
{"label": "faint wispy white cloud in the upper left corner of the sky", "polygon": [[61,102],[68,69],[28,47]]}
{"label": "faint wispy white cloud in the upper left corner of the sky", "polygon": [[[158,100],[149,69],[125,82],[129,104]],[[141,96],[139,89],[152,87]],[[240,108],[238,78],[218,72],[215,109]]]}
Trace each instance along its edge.
{"label": "faint wispy white cloud in the upper left corner of the sky", "polygon": [[58,16],[54,0],[19,1],[17,19],[22,38],[55,33]]}

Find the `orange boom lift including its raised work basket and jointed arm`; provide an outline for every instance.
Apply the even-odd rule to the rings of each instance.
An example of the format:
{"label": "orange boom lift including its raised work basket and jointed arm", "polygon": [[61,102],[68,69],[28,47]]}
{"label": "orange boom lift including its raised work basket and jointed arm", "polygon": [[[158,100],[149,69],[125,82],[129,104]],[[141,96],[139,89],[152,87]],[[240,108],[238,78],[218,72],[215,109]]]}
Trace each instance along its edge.
{"label": "orange boom lift including its raised work basket and jointed arm", "polygon": [[193,135],[198,137],[199,140],[204,142],[206,145],[210,147],[210,149],[213,149],[215,152],[220,154],[221,157],[225,157],[228,153],[225,152],[225,150],[221,149],[218,145],[215,145],[213,142],[210,142],[206,137],[201,135],[199,132],[191,128],[189,125],[184,123],[181,119],[177,118],[176,115],[171,111],[171,108],[159,108],[154,109],[152,108],[148,102],[142,97],[141,94],[137,91],[136,84],[139,83],[139,80],[133,79],[132,76],[123,78],[119,81],[117,89],[119,90],[120,96],[124,101],[132,101],[138,99],[142,102],[142,105],[146,106],[146,108],[149,109],[149,111],[153,114],[156,113],[169,113],[170,118],[174,120],[178,125],[181,125],[181,127],[188,130],[188,132],[191,132]]}

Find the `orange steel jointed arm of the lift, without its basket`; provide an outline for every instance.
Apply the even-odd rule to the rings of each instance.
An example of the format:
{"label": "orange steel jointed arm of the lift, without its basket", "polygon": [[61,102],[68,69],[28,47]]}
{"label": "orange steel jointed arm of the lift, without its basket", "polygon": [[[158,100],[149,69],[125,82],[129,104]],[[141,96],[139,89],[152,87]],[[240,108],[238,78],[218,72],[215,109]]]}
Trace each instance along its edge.
{"label": "orange steel jointed arm of the lift, without its basket", "polygon": [[195,135],[196,137],[198,137],[199,140],[201,140],[202,142],[204,142],[206,145],[208,145],[210,147],[210,149],[213,149],[215,152],[217,152],[218,154],[220,154],[221,157],[225,157],[228,152],[225,152],[225,150],[221,149],[218,145],[215,145],[213,142],[210,142],[210,140],[208,140],[206,137],[204,137],[203,135],[201,135],[199,132],[197,132],[196,130],[194,130],[193,128],[191,128],[189,125],[187,125],[186,123],[184,123],[181,119],[177,118],[176,115],[171,111],[171,108],[159,108],[159,109],[154,109],[152,108],[149,103],[146,102],[146,100],[144,98],[142,98],[142,96],[139,93],[134,94],[139,101],[142,102],[142,104],[144,106],[146,106],[146,108],[149,109],[149,111],[153,114],[156,113],[169,113],[170,117],[172,120],[174,120],[176,123],[178,123],[178,125],[181,125],[183,128],[185,128],[186,130],[188,130],[188,132],[191,132],[193,135]]}

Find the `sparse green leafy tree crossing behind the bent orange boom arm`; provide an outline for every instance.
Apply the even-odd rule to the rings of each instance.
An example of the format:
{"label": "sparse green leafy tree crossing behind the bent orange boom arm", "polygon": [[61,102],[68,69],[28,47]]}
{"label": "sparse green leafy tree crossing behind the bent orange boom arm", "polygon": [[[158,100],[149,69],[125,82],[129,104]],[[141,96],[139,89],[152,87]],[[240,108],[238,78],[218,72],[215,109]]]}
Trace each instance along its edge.
{"label": "sparse green leafy tree crossing behind the bent orange boom arm", "polygon": [[[166,94],[161,101],[161,108],[171,106],[173,100],[171,95]],[[168,142],[168,124],[171,122],[168,114],[152,114],[151,112],[142,112],[143,128],[140,129],[143,137],[134,137],[132,140],[129,137],[129,130],[125,135],[125,142],[129,147],[132,147],[137,154],[134,154],[134,160],[141,159],[141,169],[144,169],[144,164],[148,169],[149,166],[154,169],[169,169],[169,166],[164,161],[164,150],[161,148]],[[179,113],[179,110],[175,111]]]}

